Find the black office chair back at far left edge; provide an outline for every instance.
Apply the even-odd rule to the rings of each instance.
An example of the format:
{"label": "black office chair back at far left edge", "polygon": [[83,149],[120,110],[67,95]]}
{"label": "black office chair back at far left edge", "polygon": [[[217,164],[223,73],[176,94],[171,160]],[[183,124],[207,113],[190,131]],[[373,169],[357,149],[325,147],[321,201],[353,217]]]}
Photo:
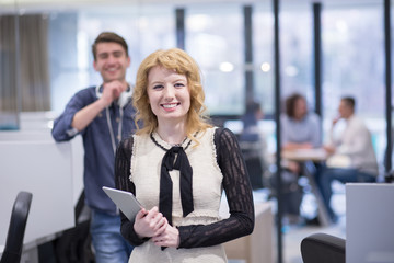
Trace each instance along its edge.
{"label": "black office chair back at far left edge", "polygon": [[19,263],[21,261],[23,239],[33,194],[20,192],[11,211],[4,251],[0,263]]}

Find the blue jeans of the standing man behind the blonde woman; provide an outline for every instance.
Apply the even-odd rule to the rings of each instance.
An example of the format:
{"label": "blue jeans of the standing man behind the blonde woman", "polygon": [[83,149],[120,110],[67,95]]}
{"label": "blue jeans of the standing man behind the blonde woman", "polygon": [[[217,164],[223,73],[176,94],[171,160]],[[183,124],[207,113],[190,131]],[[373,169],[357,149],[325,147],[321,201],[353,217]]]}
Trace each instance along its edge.
{"label": "blue jeans of the standing man behind the blonde woman", "polygon": [[127,263],[132,247],[120,235],[120,216],[92,210],[90,231],[96,263]]}

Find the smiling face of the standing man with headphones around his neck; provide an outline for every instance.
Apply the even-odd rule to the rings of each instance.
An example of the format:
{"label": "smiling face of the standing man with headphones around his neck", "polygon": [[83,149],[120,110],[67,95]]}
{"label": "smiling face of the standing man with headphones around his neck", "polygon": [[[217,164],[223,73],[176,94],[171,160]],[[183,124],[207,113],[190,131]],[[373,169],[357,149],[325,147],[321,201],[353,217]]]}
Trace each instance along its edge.
{"label": "smiling face of the standing man with headphones around his neck", "polygon": [[99,43],[96,45],[96,59],[93,67],[99,71],[104,82],[113,80],[125,81],[126,69],[130,66],[130,57],[121,45],[115,42]]}

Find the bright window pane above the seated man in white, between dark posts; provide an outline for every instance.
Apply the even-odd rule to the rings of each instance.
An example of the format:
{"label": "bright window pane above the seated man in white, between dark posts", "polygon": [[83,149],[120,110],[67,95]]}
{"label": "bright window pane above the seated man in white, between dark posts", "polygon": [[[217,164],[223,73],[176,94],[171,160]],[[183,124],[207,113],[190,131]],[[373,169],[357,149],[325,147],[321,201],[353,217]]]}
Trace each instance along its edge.
{"label": "bright window pane above the seated man in white, between dark posts", "polygon": [[356,114],[372,133],[380,163],[385,151],[383,4],[325,5],[322,12],[325,130],[341,96],[356,99]]}

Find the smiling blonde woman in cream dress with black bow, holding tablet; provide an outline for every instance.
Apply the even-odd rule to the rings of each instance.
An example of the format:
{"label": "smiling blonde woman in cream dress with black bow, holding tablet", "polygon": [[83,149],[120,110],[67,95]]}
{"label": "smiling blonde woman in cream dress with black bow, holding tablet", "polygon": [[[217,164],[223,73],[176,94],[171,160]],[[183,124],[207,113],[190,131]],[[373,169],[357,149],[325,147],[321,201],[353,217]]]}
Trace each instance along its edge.
{"label": "smiling blonde woman in cream dress with black bow, holding tablet", "polygon": [[[204,98],[199,68],[182,49],[157,50],[138,69],[132,102],[143,126],[115,160],[116,187],[143,206],[135,220],[121,215],[121,233],[136,245],[129,262],[227,262],[222,243],[253,231],[236,137],[205,121]],[[223,190],[227,219],[219,218]]]}

